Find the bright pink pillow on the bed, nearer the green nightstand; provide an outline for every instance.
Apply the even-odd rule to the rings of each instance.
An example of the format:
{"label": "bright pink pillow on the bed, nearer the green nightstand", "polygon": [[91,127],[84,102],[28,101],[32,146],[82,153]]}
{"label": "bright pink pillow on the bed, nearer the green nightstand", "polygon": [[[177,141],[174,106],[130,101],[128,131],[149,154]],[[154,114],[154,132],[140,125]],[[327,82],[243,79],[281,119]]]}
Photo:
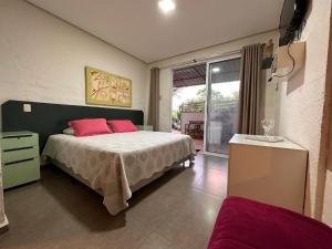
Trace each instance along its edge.
{"label": "bright pink pillow on the bed, nearer the green nightstand", "polygon": [[73,127],[75,136],[92,136],[112,133],[105,118],[71,121],[70,125]]}

